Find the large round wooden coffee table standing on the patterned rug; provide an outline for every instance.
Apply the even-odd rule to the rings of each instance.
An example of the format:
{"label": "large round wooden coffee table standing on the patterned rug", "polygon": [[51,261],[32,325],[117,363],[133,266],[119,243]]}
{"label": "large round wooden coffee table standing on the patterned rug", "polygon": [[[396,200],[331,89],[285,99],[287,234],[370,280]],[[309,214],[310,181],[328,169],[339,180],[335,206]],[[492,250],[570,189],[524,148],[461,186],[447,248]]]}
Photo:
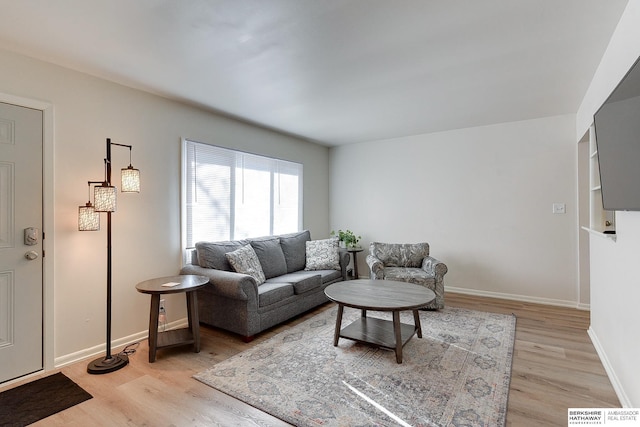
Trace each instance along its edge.
{"label": "large round wooden coffee table standing on the patterned rug", "polygon": [[[402,363],[402,347],[414,334],[422,338],[422,327],[418,309],[433,301],[436,295],[432,290],[413,283],[392,280],[349,280],[327,286],[324,290],[331,301],[338,304],[336,331],[333,345],[340,338],[377,345],[395,350],[396,362]],[[342,327],[344,307],[362,310],[359,319]],[[367,317],[367,310],[390,311],[393,321]],[[413,311],[414,325],[400,323],[400,312]]]}

